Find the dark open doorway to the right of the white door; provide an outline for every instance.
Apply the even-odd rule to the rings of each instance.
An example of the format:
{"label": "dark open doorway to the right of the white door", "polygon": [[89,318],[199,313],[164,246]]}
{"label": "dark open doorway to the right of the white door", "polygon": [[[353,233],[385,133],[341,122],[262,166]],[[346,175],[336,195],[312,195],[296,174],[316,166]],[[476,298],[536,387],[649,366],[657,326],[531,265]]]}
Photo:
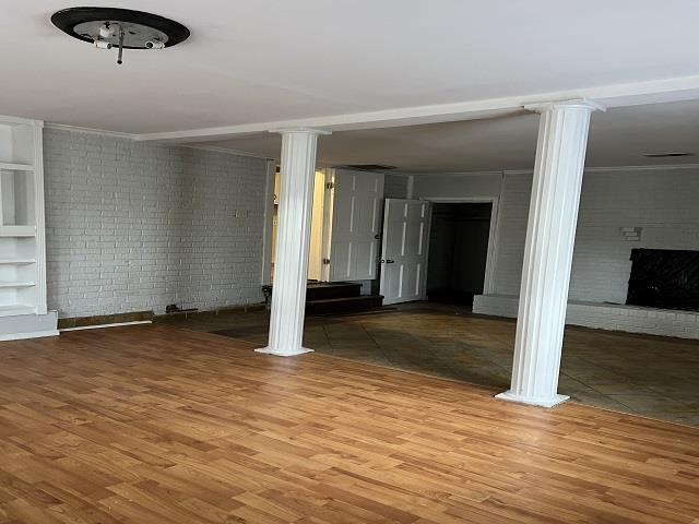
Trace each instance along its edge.
{"label": "dark open doorway to the right of the white door", "polygon": [[473,306],[483,293],[491,203],[433,204],[427,263],[431,301]]}

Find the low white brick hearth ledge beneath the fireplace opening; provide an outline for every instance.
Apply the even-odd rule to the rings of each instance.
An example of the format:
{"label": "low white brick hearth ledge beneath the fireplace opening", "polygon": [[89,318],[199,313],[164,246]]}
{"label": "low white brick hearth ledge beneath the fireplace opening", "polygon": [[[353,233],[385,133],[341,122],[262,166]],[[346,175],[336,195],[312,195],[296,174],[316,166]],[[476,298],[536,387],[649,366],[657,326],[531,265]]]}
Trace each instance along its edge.
{"label": "low white brick hearth ledge beneath the fireplace opening", "polygon": [[[473,312],[517,318],[519,297],[476,295]],[[699,338],[699,312],[615,303],[568,301],[566,324],[649,335]]]}

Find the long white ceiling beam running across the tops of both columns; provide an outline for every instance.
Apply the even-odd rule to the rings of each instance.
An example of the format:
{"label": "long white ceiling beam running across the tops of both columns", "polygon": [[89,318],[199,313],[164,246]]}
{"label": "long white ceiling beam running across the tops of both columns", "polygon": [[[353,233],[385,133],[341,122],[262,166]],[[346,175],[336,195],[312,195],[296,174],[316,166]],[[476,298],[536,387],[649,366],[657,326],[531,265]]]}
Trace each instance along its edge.
{"label": "long white ceiling beam running across the tops of both columns", "polygon": [[202,139],[214,140],[236,134],[260,133],[269,130],[289,128],[320,128],[325,131],[348,131],[452,122],[458,120],[476,120],[511,115],[521,111],[525,106],[534,104],[580,98],[594,99],[597,104],[605,107],[625,107],[641,104],[698,99],[699,75],[540,93],[528,96],[470,100],[455,104],[401,107],[328,117],[253,122],[163,133],[143,133],[138,134],[135,140],[197,142]]}

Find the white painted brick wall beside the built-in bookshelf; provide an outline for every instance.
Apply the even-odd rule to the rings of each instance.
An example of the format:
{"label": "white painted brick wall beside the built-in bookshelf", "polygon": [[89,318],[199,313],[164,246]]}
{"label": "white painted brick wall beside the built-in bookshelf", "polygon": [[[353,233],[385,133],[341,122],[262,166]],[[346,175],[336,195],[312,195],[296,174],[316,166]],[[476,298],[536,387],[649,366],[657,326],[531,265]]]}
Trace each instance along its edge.
{"label": "white painted brick wall beside the built-in bookshelf", "polygon": [[54,129],[44,150],[60,317],[262,299],[264,160]]}

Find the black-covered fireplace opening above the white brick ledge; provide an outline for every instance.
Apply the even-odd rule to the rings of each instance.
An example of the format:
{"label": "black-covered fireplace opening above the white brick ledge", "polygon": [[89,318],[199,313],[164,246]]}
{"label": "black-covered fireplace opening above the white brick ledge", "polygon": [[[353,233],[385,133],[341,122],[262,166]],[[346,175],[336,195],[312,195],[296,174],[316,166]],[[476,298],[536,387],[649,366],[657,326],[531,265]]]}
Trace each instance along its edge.
{"label": "black-covered fireplace opening above the white brick ledge", "polygon": [[699,251],[632,249],[626,303],[699,311]]}

